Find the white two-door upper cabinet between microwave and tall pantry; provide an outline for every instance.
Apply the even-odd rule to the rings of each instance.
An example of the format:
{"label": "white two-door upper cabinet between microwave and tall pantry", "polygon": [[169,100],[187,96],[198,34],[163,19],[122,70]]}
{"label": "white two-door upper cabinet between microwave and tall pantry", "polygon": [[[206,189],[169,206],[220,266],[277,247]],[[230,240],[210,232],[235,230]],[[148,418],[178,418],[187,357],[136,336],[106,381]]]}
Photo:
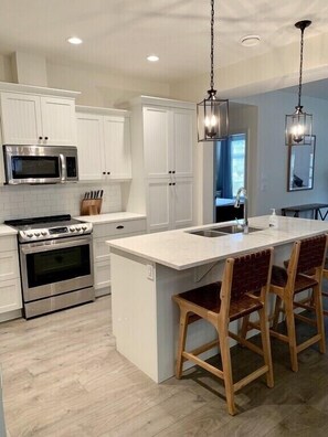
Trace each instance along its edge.
{"label": "white two-door upper cabinet between microwave and tall pantry", "polygon": [[129,113],[82,106],[76,108],[80,180],[129,180]]}

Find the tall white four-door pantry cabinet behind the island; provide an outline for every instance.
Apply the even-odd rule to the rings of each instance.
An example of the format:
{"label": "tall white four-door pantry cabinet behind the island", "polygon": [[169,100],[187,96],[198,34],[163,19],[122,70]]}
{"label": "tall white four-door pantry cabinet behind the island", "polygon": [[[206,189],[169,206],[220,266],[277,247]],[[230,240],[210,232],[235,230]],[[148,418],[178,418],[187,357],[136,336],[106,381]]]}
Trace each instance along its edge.
{"label": "tall white four-door pantry cabinet behind the island", "polygon": [[141,96],[131,102],[133,182],[127,211],[147,231],[191,226],[195,105]]}

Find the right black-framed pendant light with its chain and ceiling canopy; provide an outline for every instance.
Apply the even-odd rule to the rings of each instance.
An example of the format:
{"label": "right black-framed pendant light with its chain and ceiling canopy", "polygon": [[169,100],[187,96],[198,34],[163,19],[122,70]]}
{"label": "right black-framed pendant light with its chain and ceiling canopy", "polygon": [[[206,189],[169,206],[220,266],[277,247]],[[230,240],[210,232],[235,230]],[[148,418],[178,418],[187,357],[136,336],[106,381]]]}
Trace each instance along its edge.
{"label": "right black-framed pendant light with its chain and ceiling canopy", "polygon": [[301,70],[303,70],[303,46],[304,30],[310,25],[311,21],[303,20],[295,23],[300,29],[300,63],[299,63],[299,85],[298,85],[298,103],[295,106],[295,113],[286,115],[286,146],[303,146],[311,143],[313,135],[313,115],[306,114],[300,105],[301,97]]}

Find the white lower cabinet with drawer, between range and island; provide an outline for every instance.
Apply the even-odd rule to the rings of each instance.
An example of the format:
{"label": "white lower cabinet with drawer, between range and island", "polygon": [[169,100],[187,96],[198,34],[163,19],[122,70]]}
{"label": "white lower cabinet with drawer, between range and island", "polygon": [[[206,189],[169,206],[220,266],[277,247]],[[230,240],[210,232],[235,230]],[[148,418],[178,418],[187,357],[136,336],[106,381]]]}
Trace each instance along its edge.
{"label": "white lower cabinet with drawer, between range and island", "polygon": [[110,254],[108,239],[146,233],[146,218],[93,223],[94,275],[96,297],[110,292]]}

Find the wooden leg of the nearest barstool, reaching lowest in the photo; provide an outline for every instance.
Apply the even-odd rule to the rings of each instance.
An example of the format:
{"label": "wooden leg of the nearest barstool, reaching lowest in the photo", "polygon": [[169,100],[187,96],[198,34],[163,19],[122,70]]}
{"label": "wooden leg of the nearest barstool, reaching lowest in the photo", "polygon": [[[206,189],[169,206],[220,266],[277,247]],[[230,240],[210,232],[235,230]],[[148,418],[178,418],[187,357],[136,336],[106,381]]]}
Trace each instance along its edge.
{"label": "wooden leg of the nearest barstool, reaching lowest in the photo", "polygon": [[231,355],[230,355],[230,344],[229,334],[226,327],[219,327],[218,329],[220,350],[222,358],[222,371],[225,387],[225,397],[228,404],[228,412],[232,416],[236,414],[236,408],[234,405],[234,390],[232,380],[232,367],[231,367]]}

